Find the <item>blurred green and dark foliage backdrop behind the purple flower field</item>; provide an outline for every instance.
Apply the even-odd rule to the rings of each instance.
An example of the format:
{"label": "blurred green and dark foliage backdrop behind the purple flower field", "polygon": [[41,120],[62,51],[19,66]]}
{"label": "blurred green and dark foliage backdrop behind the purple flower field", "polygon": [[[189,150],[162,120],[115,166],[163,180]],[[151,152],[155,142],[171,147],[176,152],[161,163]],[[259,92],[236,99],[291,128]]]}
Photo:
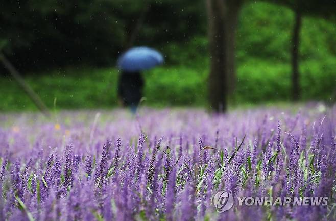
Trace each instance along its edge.
{"label": "blurred green and dark foliage backdrop behind the purple flower field", "polygon": [[[5,52],[26,73],[28,83],[46,105],[53,107],[55,97],[57,108],[117,105],[118,71],[114,68],[114,61],[125,44],[128,27],[134,25],[134,19],[141,11],[140,3],[97,0],[92,1],[90,7],[78,4],[73,9],[69,2],[62,2],[64,7],[56,7],[49,0],[43,4],[30,2],[32,4],[25,7],[29,8],[32,16],[25,22],[28,26],[39,23],[43,31],[40,27],[33,30],[32,36],[25,34],[25,27],[21,27],[23,21],[17,14],[17,20],[11,16],[14,23],[2,28],[9,32],[1,32],[0,39],[10,39]],[[157,47],[165,55],[166,62],[162,67],[143,73],[146,105],[206,105],[209,58],[203,2],[164,0],[148,3],[150,15],[146,17],[136,44]],[[4,11],[1,19],[6,15]],[[49,23],[50,19],[56,23]],[[293,21],[294,13],[284,6],[266,2],[244,5],[236,41],[238,82],[236,94],[230,97],[231,105],[290,99]],[[67,30],[69,27],[74,31]],[[16,31],[22,33],[15,36]],[[39,37],[34,37],[35,34]],[[303,18],[300,32],[303,101],[334,99],[334,36],[336,25],[333,21]],[[36,48],[38,44],[40,46]],[[42,70],[25,71],[28,64],[33,69],[42,65]],[[10,74],[6,70],[0,71],[5,73],[0,76],[0,110],[35,109]]]}

